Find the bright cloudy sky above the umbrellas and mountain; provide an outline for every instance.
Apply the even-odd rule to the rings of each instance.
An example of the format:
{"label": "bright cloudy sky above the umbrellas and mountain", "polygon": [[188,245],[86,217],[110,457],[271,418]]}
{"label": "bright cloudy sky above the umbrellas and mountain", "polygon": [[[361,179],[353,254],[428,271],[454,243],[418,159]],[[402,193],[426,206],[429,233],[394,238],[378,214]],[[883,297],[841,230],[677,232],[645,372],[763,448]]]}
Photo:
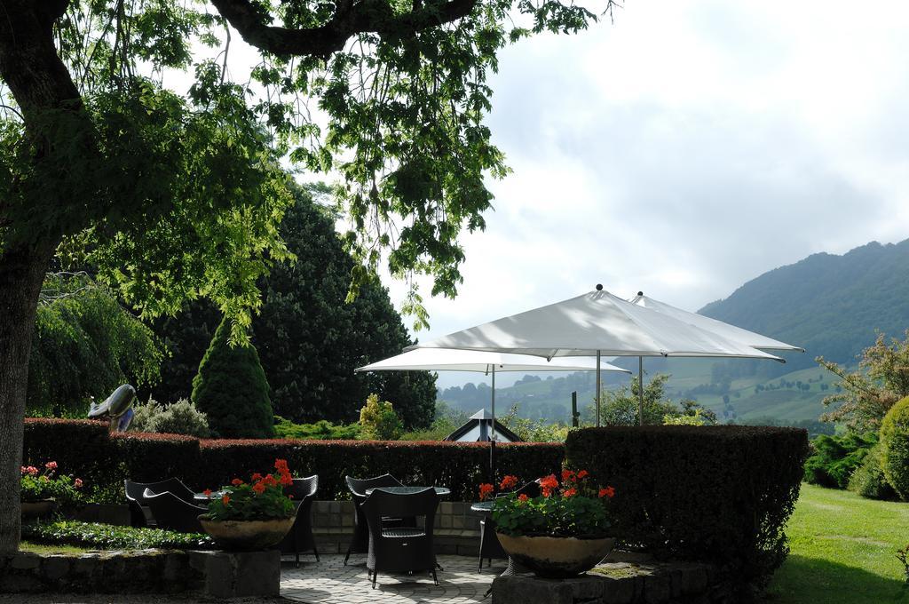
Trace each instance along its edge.
{"label": "bright cloudy sky above the umbrellas and mountain", "polygon": [[906,31],[902,3],[627,0],[612,24],[509,48],[489,124],[514,173],[417,336],[596,283],[694,310],[909,237]]}

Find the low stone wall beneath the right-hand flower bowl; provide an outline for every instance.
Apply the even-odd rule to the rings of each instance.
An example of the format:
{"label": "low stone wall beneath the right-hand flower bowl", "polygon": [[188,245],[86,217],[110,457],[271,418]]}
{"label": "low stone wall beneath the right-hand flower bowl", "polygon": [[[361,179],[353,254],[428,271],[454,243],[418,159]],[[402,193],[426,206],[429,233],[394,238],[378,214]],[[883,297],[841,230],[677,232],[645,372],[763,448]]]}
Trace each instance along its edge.
{"label": "low stone wall beneath the right-hand flower bowl", "polygon": [[586,575],[540,579],[512,575],[493,579],[493,604],[709,604],[712,566],[690,562],[624,561],[610,555]]}

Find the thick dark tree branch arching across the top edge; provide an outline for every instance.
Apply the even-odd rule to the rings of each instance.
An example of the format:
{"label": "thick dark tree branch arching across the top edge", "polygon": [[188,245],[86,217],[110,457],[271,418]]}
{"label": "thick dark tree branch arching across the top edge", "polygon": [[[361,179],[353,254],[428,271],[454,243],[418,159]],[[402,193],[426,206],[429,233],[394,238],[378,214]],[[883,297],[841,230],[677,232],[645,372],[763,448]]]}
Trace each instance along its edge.
{"label": "thick dark tree branch arching across the top edge", "polygon": [[212,0],[217,11],[250,45],[275,55],[329,55],[344,48],[353,35],[375,33],[402,37],[470,15],[478,0],[447,0],[395,15],[385,0],[342,0],[321,27],[288,29],[266,25],[249,0]]}

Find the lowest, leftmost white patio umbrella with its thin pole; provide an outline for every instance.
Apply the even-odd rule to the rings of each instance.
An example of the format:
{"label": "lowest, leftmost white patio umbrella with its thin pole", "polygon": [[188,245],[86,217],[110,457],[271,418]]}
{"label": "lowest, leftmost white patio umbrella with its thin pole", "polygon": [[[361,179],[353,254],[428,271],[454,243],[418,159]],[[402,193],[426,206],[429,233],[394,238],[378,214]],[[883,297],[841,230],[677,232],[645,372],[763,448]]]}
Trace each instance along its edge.
{"label": "lowest, leftmost white patio umbrella with its thin pole", "polygon": [[[455,350],[445,348],[417,347],[395,357],[385,358],[355,371],[473,371],[492,376],[490,392],[493,430],[490,438],[490,471],[494,473],[495,447],[495,373],[501,371],[618,371],[631,373],[627,369],[609,363],[594,362],[592,358],[552,358],[528,355],[486,352],[480,350]],[[597,371],[599,383],[600,371]]]}

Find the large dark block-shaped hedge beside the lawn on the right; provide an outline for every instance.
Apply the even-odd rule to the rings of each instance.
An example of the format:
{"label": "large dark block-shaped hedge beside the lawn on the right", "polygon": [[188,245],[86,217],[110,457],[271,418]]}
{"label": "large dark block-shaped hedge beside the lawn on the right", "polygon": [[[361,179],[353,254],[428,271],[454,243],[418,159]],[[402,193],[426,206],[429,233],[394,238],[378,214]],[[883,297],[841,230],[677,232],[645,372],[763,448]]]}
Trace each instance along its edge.
{"label": "large dark block-shaped hedge beside the lawn on the right", "polygon": [[571,467],[614,486],[617,537],[714,561],[741,599],[788,553],[807,451],[804,430],[747,426],[585,428],[565,443]]}

